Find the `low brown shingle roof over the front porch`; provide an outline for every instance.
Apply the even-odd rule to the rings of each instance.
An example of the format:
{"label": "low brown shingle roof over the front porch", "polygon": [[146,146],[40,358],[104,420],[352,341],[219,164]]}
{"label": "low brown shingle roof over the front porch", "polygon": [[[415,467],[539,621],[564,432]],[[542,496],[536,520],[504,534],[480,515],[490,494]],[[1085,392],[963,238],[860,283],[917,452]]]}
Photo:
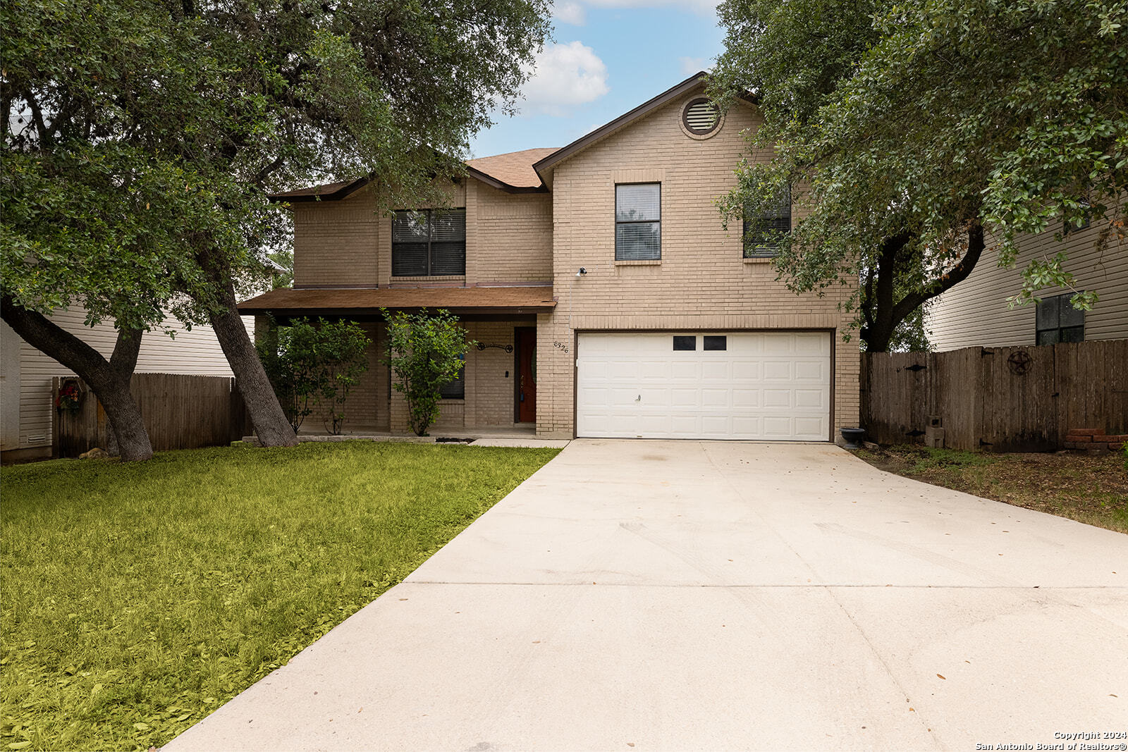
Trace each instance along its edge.
{"label": "low brown shingle roof over the front porch", "polygon": [[458,312],[536,313],[556,306],[548,285],[531,287],[404,287],[291,290],[281,287],[239,303],[240,313],[282,316],[372,313],[378,308],[446,308]]}

